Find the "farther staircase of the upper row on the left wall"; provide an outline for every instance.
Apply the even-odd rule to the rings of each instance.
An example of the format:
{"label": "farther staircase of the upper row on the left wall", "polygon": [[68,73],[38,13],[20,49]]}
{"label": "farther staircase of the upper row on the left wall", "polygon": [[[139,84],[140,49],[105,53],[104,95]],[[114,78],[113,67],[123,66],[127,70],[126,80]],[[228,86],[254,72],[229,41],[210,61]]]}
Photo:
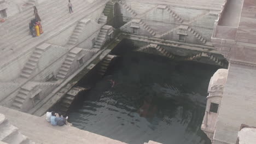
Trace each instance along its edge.
{"label": "farther staircase of the upper row on the left wall", "polygon": [[67,43],[68,45],[75,45],[75,44],[77,44],[77,42],[78,42],[78,37],[79,37],[79,35],[82,33],[82,30],[83,30],[85,24],[86,24],[86,23],[84,23],[84,22],[82,22],[82,21],[79,21],[79,22],[77,23],[77,26],[75,27],[75,29],[74,29],[74,31],[73,31],[71,37],[70,37],[69,40],[68,40],[68,43]]}

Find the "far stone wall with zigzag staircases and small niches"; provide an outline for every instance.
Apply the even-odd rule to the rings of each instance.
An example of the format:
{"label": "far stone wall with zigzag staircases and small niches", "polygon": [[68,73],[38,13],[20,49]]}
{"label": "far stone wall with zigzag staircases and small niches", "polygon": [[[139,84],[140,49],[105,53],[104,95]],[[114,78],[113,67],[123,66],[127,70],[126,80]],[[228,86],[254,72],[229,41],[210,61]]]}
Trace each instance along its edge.
{"label": "far stone wall with zigzag staircases and small niches", "polygon": [[[187,4],[182,2],[181,4],[177,1],[174,2],[176,5],[173,5],[171,2],[162,1],[120,1],[119,4],[122,6],[121,13],[124,16],[123,19],[127,21],[126,25],[121,27],[121,29],[132,34],[136,34],[134,32],[138,31],[138,35],[147,37],[211,46],[210,40],[214,21],[218,18],[216,15],[212,15],[212,13],[213,11],[218,12],[221,10],[222,2],[216,2],[216,7],[219,7],[217,10],[212,9],[210,5],[202,9],[202,5],[205,2],[201,2],[203,3],[202,5],[191,4],[188,7],[184,7]],[[210,3],[214,2],[211,1]],[[142,5],[147,5],[147,9],[142,7]],[[137,28],[132,27],[131,21],[134,19],[141,19],[143,22],[142,26]],[[209,25],[209,23],[211,24]],[[189,28],[184,30],[185,34],[179,31],[178,27],[181,25],[189,26]],[[180,35],[185,38],[180,38]]]}

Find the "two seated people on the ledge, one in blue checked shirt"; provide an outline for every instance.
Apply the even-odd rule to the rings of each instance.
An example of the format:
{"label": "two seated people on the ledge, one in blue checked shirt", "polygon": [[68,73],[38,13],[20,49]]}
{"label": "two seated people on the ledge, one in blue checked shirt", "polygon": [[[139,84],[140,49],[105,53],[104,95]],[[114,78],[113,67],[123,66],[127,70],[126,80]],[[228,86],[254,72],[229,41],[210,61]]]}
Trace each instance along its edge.
{"label": "two seated people on the ledge, one in blue checked shirt", "polygon": [[51,125],[56,126],[62,126],[62,125],[69,125],[71,126],[72,123],[67,122],[68,117],[63,117],[61,113],[55,113],[53,112],[46,112],[46,121],[50,122]]}

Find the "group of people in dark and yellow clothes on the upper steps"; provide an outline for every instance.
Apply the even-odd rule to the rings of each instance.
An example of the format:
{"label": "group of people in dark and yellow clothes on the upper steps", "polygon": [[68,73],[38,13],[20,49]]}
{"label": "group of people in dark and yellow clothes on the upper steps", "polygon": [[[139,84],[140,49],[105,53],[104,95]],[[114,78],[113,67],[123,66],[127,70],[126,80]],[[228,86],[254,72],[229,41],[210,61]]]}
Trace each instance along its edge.
{"label": "group of people in dark and yellow clothes on the upper steps", "polygon": [[34,8],[34,19],[30,21],[30,33],[32,37],[38,37],[40,34],[43,33],[42,25],[40,23],[41,19],[37,12],[37,7]]}

